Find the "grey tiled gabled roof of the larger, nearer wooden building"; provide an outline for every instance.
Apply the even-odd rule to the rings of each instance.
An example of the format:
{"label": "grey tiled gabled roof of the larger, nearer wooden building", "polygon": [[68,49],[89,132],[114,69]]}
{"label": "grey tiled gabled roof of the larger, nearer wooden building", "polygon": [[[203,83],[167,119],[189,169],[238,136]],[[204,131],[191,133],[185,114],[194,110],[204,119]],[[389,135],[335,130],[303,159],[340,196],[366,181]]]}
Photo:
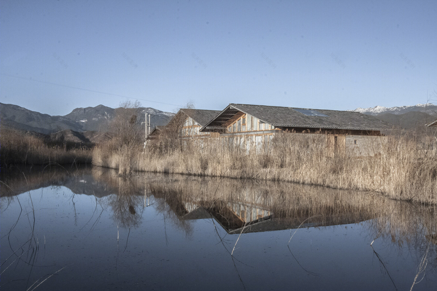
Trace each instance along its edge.
{"label": "grey tiled gabled roof of the larger, nearer wooden building", "polygon": [[349,130],[392,130],[394,127],[360,112],[231,103],[201,131],[207,126],[222,127],[238,111],[278,127]]}

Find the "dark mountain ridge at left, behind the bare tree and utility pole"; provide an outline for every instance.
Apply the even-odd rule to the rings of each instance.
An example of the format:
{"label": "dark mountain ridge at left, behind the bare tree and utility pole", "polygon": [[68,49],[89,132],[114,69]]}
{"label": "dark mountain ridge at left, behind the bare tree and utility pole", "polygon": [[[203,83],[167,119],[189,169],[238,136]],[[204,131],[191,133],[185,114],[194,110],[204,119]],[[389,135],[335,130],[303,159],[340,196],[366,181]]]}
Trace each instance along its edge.
{"label": "dark mountain ridge at left, behind the bare tree and utility pole", "polygon": [[[151,128],[166,125],[174,116],[173,113],[160,111],[150,107],[140,108],[140,121],[145,120],[145,113],[149,113]],[[2,126],[24,131],[34,131],[52,134],[62,130],[74,132],[97,131],[106,132],[108,124],[114,119],[115,109],[103,105],[96,107],[76,108],[64,116],[51,116],[26,108],[0,103],[0,121]]]}

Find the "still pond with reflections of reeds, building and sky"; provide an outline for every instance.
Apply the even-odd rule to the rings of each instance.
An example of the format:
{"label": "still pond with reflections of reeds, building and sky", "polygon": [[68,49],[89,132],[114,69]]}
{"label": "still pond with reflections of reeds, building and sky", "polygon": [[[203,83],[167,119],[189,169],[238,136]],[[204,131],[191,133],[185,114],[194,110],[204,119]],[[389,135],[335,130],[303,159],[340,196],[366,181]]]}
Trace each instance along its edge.
{"label": "still pond with reflections of reeds, building and sky", "polygon": [[2,174],[2,291],[437,290],[435,206],[100,167]]}

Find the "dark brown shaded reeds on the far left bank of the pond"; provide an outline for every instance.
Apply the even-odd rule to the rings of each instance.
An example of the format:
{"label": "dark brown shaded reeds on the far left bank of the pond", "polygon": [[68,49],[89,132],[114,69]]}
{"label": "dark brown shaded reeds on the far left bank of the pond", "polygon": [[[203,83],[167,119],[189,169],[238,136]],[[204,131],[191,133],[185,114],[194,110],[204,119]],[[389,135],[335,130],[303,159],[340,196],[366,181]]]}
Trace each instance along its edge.
{"label": "dark brown shaded reeds on the far left bank of the pond", "polygon": [[68,149],[66,146],[48,145],[42,137],[22,132],[1,129],[0,159],[1,165],[26,164],[43,165],[91,163],[91,150],[82,148]]}

